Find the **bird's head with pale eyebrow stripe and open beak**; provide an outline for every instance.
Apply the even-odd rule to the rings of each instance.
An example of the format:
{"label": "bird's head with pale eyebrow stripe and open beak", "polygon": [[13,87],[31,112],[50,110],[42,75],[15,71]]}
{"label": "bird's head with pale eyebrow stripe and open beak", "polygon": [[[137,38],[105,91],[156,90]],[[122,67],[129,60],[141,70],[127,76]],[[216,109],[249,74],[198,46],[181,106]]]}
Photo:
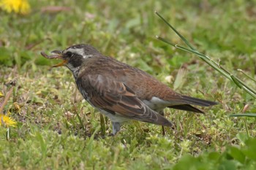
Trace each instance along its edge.
{"label": "bird's head with pale eyebrow stripe and open beak", "polygon": [[66,50],[53,50],[51,52],[53,55],[46,55],[45,53],[41,53],[41,55],[45,58],[59,58],[63,60],[61,63],[56,64],[53,67],[57,66],[67,66],[72,72],[79,69],[80,66],[86,62],[87,59],[94,57],[94,55],[99,55],[99,51],[96,50],[91,45],[72,45],[68,47]]}

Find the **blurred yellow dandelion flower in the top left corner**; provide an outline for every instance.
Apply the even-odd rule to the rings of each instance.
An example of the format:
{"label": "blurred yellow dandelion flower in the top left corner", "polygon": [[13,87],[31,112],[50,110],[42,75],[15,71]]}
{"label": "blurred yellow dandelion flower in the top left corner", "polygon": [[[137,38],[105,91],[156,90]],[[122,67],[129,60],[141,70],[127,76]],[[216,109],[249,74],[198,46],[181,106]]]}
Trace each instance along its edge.
{"label": "blurred yellow dandelion flower in the top left corner", "polygon": [[30,5],[27,0],[0,0],[0,8],[6,12],[15,12],[18,14],[28,14]]}

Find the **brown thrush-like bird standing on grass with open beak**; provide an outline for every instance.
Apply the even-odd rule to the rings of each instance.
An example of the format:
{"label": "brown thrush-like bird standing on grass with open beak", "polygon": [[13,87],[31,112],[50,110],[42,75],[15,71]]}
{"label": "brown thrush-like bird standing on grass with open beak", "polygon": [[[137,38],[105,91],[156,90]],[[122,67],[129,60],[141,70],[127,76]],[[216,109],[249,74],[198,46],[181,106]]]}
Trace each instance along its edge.
{"label": "brown thrush-like bird standing on grass with open beak", "polygon": [[129,120],[172,127],[173,123],[163,115],[166,107],[203,113],[192,105],[210,107],[217,104],[176,93],[151,74],[105,56],[91,45],[72,45],[51,53],[41,52],[41,55],[62,60],[53,67],[67,66],[83,98],[109,117],[113,135]]}

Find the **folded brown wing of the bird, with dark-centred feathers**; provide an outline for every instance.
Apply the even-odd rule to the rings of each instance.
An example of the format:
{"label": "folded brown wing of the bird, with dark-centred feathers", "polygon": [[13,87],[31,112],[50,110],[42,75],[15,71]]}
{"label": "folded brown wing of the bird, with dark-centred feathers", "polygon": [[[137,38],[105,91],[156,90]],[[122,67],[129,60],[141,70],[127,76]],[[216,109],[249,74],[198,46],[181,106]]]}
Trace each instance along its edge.
{"label": "folded brown wing of the bird, with dark-centred feathers", "polygon": [[97,74],[80,77],[77,83],[80,90],[85,90],[84,97],[94,107],[129,119],[157,125],[172,125],[165,117],[140,101],[136,94],[122,82]]}

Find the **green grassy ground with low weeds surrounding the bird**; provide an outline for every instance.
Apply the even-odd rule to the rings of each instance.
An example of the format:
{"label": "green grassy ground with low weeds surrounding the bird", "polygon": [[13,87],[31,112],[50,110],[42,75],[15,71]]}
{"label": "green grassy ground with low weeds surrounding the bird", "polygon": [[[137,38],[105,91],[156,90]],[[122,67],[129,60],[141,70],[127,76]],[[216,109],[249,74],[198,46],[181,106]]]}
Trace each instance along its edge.
{"label": "green grassy ground with low weeds surrounding the bird", "polygon": [[[198,60],[157,40],[182,45],[157,10],[198,51],[255,88],[254,1],[30,1],[30,15],[0,11],[0,92],[17,80],[4,110],[18,121],[0,127],[0,169],[255,169],[255,98]],[[68,11],[41,10],[48,6]],[[154,75],[177,92],[218,101],[206,115],[166,109],[176,131],[131,122],[108,136],[110,121],[76,90],[66,68],[39,55],[89,43],[105,55]],[[4,97],[0,98],[4,101]],[[246,104],[249,108],[244,110]],[[16,107],[15,107],[16,106]],[[19,106],[19,107],[17,107]],[[105,134],[105,135],[104,135]]]}

